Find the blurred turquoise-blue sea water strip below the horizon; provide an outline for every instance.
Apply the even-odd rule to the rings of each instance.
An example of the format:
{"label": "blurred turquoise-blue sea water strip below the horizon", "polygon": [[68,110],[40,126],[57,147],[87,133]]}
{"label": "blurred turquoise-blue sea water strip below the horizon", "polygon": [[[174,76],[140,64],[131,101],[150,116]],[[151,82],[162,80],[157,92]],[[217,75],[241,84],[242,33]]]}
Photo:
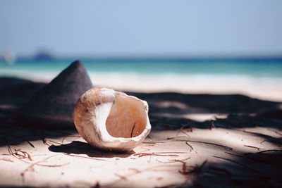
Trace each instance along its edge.
{"label": "blurred turquoise-blue sea water strip below the horizon", "polygon": [[[58,73],[73,60],[19,60],[12,65],[0,63],[0,76],[13,71]],[[282,77],[282,59],[273,60],[95,60],[82,59],[92,73],[122,73],[138,75],[244,75],[250,77]],[[20,76],[20,75],[18,75]]]}

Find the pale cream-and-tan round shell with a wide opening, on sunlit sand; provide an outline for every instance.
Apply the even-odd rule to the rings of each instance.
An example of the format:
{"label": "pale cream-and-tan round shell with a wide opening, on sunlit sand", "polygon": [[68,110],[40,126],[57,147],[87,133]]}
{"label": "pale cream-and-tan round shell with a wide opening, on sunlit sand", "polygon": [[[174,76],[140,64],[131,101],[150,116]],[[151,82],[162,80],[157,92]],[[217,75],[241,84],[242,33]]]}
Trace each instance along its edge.
{"label": "pale cream-and-tan round shell with a wide opening, on sunlit sand", "polygon": [[94,87],[75,106],[74,122],[80,135],[92,146],[130,151],[151,130],[146,101],[113,89]]}

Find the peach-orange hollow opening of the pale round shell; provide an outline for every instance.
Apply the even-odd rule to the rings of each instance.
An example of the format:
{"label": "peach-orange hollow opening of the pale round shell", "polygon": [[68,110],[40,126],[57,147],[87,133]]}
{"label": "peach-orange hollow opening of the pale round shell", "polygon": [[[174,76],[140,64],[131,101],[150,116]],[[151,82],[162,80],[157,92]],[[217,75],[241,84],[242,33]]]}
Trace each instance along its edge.
{"label": "peach-orange hollow opening of the pale round shell", "polygon": [[131,138],[140,135],[147,125],[147,113],[142,101],[116,94],[106,119],[106,130],[112,137]]}

